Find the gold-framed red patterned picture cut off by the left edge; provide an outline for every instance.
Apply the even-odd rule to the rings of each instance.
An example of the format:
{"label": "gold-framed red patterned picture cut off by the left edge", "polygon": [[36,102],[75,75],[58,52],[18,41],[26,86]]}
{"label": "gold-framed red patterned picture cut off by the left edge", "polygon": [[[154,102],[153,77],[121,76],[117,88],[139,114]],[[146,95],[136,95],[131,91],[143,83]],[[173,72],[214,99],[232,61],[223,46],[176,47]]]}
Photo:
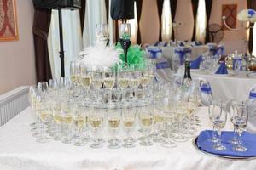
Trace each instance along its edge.
{"label": "gold-framed red patterned picture cut off by the left edge", "polygon": [[18,40],[15,0],[0,0],[0,41]]}

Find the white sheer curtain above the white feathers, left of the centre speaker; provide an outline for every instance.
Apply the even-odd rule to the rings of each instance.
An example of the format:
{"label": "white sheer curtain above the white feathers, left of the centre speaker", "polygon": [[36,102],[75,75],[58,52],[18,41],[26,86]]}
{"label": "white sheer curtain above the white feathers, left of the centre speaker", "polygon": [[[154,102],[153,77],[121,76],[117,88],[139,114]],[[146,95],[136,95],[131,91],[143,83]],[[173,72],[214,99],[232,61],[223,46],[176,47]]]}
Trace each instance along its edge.
{"label": "white sheer curtain above the white feathers, left of the centre speaker", "polygon": [[[109,20],[109,22],[111,22],[111,20]],[[107,24],[107,10],[105,0],[86,1],[83,34],[84,48],[94,45],[96,24]]]}

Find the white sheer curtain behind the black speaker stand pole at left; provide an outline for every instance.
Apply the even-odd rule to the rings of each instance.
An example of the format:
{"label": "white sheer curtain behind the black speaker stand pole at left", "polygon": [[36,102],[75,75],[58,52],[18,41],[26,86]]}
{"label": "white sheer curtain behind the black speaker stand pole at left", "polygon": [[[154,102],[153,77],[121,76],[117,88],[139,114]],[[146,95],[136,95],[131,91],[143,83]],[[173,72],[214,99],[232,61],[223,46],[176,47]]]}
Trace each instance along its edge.
{"label": "white sheer curtain behind the black speaker stand pole at left", "polygon": [[[79,9],[62,9],[63,42],[65,55],[65,77],[69,77],[70,61],[82,50],[82,33]],[[49,62],[53,78],[61,77],[60,34],[58,11],[52,10],[48,36]]]}

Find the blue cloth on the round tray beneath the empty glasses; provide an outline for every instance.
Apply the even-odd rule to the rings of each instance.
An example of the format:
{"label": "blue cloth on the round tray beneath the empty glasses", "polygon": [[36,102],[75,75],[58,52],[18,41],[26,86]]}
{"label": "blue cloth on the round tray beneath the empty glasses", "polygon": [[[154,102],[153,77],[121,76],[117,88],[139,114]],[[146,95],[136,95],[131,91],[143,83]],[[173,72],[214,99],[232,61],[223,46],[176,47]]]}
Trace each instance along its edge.
{"label": "blue cloth on the round tray beneath the empty glasses", "polygon": [[197,139],[197,146],[199,149],[207,151],[208,153],[220,155],[220,156],[241,156],[252,157],[256,156],[256,134],[243,132],[241,134],[242,145],[247,147],[247,151],[238,152],[232,150],[232,144],[229,143],[233,138],[233,132],[223,131],[221,135],[222,144],[227,148],[226,150],[214,150],[212,149],[213,143],[208,141],[212,138],[212,132],[210,130],[202,131]]}

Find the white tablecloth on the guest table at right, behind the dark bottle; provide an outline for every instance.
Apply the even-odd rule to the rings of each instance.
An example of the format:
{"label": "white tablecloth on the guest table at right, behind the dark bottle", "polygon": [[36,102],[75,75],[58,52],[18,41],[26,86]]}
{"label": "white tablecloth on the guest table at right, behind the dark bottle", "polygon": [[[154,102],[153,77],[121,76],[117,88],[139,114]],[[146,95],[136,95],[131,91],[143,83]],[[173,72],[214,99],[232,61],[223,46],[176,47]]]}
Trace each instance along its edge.
{"label": "white tablecloth on the guest table at right, behind the dark bottle", "polygon": [[[178,74],[183,76],[183,66],[178,70]],[[250,89],[256,85],[256,79],[250,78],[245,74],[241,76],[217,75],[214,73],[206,74],[200,70],[191,69],[192,79],[201,77],[207,79],[212,87],[213,97],[218,99],[236,99],[237,101],[246,100],[249,98]]]}

